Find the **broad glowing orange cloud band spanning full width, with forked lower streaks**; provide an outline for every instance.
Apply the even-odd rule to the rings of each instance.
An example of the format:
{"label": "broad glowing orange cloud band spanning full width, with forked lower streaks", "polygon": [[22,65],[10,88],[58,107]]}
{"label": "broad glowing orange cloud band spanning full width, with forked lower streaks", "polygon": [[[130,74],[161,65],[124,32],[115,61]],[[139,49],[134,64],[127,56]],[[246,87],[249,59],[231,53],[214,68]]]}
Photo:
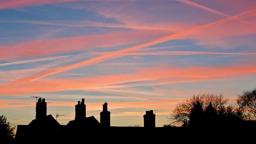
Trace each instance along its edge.
{"label": "broad glowing orange cloud band spanning full width, with forked lower streaks", "polygon": [[[70,79],[49,79],[44,81],[28,82],[19,86],[10,87],[0,91],[0,95],[22,94],[32,92],[48,92],[62,90],[87,90],[101,93],[118,94],[129,97],[162,100],[139,95],[149,95],[141,92],[129,92],[113,90],[109,88],[150,86],[170,83],[183,83],[195,81],[214,81],[234,78],[243,75],[255,74],[255,66],[243,67],[211,67],[211,68],[173,68],[173,67],[151,67],[143,68],[141,71],[127,74],[90,76]],[[122,84],[137,81],[148,81],[143,83]],[[86,83],[84,83],[86,82]],[[118,85],[116,85],[118,84]],[[127,94],[134,93],[134,94]]]}

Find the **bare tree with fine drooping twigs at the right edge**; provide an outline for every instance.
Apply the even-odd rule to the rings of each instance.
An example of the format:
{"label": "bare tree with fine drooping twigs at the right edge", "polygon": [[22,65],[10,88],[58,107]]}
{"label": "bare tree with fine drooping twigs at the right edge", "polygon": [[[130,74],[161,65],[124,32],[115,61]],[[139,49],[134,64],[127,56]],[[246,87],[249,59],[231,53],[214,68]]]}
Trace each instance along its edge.
{"label": "bare tree with fine drooping twigs at the right edge", "polygon": [[237,104],[243,113],[244,120],[256,120],[256,88],[238,95]]}

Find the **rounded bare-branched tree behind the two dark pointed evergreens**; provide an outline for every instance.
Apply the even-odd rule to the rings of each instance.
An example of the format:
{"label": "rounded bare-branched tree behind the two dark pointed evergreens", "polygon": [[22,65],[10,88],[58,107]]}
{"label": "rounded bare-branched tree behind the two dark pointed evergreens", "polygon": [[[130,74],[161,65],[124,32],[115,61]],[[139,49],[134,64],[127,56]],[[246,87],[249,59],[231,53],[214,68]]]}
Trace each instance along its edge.
{"label": "rounded bare-branched tree behind the two dark pointed evergreens", "polygon": [[187,126],[189,124],[190,115],[194,106],[197,103],[200,103],[203,111],[205,111],[210,102],[216,111],[223,108],[223,106],[228,106],[228,98],[225,98],[223,94],[197,94],[185,99],[183,103],[178,103],[167,118],[172,125]]}

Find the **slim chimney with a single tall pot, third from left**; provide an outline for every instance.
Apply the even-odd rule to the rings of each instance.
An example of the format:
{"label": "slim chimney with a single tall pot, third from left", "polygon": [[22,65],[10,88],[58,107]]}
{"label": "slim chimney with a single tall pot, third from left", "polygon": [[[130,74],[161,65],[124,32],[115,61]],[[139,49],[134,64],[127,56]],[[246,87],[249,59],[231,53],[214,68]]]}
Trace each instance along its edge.
{"label": "slim chimney with a single tall pot, third from left", "polygon": [[100,125],[110,127],[110,112],[108,111],[108,103],[103,104],[103,111],[100,112]]}

